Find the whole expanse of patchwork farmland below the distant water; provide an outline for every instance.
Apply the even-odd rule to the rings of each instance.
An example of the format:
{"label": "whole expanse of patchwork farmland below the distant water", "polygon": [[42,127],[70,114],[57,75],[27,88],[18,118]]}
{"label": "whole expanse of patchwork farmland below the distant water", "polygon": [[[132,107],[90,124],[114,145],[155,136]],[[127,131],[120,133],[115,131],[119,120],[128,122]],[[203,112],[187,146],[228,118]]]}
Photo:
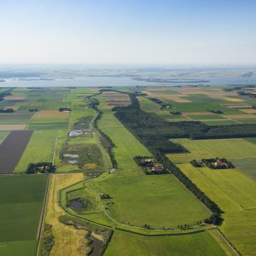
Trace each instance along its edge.
{"label": "whole expanse of patchwork farmland below the distant water", "polygon": [[[255,105],[225,89],[10,90],[0,254],[253,255]],[[235,168],[190,163],[203,159]]]}

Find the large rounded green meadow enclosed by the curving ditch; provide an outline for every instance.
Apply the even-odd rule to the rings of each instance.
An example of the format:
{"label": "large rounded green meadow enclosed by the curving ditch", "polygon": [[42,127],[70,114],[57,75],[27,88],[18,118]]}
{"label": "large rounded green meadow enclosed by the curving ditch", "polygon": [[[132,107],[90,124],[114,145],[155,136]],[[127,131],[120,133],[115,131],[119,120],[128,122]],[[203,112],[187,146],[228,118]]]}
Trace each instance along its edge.
{"label": "large rounded green meadow enclosed by the curving ditch", "polygon": [[123,224],[177,228],[179,224],[195,224],[210,214],[172,175],[120,172],[88,186],[113,198],[116,210],[109,207],[107,212]]}

